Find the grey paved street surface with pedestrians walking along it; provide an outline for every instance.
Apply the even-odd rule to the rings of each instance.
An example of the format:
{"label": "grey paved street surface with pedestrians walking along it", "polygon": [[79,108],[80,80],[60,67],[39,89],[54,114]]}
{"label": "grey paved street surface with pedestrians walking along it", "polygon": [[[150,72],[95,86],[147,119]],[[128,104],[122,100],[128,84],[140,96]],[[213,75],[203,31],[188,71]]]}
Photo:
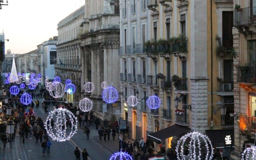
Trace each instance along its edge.
{"label": "grey paved street surface with pedestrians walking along it", "polygon": [[[41,104],[41,103],[40,103]],[[43,120],[46,120],[46,115],[42,106],[35,108],[36,116],[40,116]],[[52,108],[50,108],[52,110]],[[78,146],[82,152],[83,148],[88,151],[89,160],[108,160],[113,152],[118,151],[118,141],[102,141],[98,142],[98,131],[94,124],[90,126],[90,138],[86,140],[86,134],[82,129],[78,129],[78,132],[66,142],[52,141],[51,154],[49,156],[42,155],[41,144],[35,143],[35,137],[32,139],[26,139],[25,143],[20,143],[20,136],[16,135],[13,147],[10,148],[9,143],[6,144],[6,148],[1,144],[1,160],[72,160],[75,159],[74,150]],[[18,133],[17,133],[18,134]],[[82,156],[81,156],[82,159]]]}

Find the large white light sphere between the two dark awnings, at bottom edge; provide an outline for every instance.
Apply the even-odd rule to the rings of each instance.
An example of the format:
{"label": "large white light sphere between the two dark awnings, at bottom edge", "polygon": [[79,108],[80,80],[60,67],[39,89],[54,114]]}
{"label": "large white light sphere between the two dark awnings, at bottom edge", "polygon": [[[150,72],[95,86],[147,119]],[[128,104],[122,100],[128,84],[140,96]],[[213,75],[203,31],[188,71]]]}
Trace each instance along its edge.
{"label": "large white light sphere between the two dark awnings, at bottom edge", "polygon": [[187,144],[190,160],[212,160],[212,143],[207,136],[199,132],[190,132],[180,138],[176,146],[178,160],[184,160],[184,149]]}

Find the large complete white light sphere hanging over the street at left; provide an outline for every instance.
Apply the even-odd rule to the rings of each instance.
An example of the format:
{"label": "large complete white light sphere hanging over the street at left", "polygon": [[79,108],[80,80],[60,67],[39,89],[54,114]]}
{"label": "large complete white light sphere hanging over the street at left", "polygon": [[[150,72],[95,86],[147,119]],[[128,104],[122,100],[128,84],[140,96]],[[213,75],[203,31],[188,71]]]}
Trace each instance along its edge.
{"label": "large complete white light sphere hanging over the street at left", "polygon": [[[54,120],[54,126],[52,127],[50,122]],[[71,122],[71,130],[68,130],[67,120]],[[77,131],[76,116],[69,110],[64,108],[58,108],[50,112],[45,122],[45,128],[48,135],[52,140],[63,142],[69,140]]]}

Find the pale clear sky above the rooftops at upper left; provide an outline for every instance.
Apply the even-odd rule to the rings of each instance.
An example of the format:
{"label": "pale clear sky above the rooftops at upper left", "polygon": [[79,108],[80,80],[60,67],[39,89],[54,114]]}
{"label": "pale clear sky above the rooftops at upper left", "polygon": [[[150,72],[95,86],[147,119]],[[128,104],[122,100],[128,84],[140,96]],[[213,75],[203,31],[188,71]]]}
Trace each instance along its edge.
{"label": "pale clear sky above the rooftops at upper left", "polygon": [[[85,0],[8,0],[0,10],[0,33],[4,31],[5,52],[24,54],[58,36],[57,25],[84,5]],[[6,4],[6,0],[4,0]]]}

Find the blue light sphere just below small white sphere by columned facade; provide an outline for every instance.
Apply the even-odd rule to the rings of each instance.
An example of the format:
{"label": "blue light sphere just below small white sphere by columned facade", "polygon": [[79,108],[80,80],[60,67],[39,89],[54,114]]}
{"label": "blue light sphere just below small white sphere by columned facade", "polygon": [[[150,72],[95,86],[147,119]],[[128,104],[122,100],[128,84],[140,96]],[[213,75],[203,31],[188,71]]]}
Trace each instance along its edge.
{"label": "blue light sphere just below small white sphere by columned facade", "polygon": [[114,103],[118,98],[118,92],[114,87],[107,87],[102,92],[102,99],[107,103]]}

